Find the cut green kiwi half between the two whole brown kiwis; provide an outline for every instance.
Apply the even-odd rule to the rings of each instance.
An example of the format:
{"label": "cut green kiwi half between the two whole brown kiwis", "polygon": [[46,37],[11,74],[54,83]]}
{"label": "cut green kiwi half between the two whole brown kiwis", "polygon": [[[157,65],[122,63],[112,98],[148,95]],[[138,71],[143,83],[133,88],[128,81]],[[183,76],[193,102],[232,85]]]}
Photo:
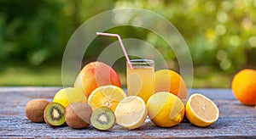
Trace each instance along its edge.
{"label": "cut green kiwi half between the two whole brown kiwis", "polygon": [[65,123],[65,108],[60,103],[49,103],[44,109],[44,121],[50,126]]}

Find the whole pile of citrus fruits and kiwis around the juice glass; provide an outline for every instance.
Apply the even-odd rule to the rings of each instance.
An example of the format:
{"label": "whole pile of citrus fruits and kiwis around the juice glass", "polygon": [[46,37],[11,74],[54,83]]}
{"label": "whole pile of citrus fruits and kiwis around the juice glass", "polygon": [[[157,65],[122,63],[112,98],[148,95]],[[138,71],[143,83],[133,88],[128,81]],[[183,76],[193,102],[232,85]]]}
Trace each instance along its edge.
{"label": "whole pile of citrus fruits and kiwis around the juice glass", "polygon": [[218,120],[218,107],[212,100],[195,93],[184,104],[186,96],[182,77],[172,70],[161,69],[155,72],[154,95],[148,102],[137,96],[127,97],[114,69],[102,62],[92,62],[80,71],[74,87],[56,92],[53,102],[29,101],[25,113],[33,122],[50,126],[66,124],[74,129],[92,125],[100,131],[109,131],[115,124],[136,129],[147,116],[160,127],[178,125],[184,115],[193,125],[202,127]]}

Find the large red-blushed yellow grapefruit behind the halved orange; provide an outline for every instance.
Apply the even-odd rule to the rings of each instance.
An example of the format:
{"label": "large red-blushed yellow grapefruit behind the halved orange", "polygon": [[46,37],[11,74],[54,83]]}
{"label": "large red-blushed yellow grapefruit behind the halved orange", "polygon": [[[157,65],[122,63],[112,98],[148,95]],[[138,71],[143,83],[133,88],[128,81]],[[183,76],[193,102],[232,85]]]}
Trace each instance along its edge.
{"label": "large red-blushed yellow grapefruit behind the halved orange", "polygon": [[86,64],[80,71],[74,83],[74,87],[83,89],[84,94],[89,97],[90,92],[98,86],[121,86],[119,75],[113,68],[102,62],[96,61]]}

